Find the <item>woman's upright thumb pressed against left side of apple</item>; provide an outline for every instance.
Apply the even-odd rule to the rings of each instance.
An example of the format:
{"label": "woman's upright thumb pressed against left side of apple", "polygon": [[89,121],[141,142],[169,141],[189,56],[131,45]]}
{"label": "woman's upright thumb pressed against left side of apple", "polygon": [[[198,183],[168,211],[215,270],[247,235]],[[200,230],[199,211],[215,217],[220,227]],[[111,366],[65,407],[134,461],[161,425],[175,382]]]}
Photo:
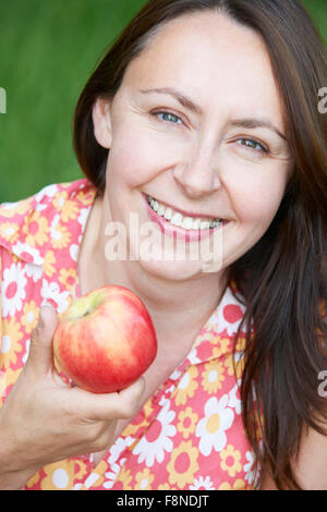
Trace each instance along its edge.
{"label": "woman's upright thumb pressed against left side of apple", "polygon": [[41,306],[38,322],[31,334],[27,368],[34,374],[46,374],[53,366],[52,338],[58,324],[57,313],[52,306]]}

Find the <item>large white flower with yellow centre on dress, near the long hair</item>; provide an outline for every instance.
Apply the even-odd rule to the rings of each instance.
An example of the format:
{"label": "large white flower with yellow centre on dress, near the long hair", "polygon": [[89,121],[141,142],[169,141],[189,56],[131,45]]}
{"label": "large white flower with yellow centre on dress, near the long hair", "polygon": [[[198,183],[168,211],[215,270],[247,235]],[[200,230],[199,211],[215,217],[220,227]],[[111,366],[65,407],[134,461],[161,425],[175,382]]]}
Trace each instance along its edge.
{"label": "large white flower with yellow centre on dress, near the long hair", "polygon": [[195,435],[201,438],[198,450],[205,456],[213,449],[219,452],[226,446],[226,430],[232,426],[234,418],[233,411],[227,404],[228,394],[225,394],[220,400],[211,397],[204,406],[205,417],[198,422]]}

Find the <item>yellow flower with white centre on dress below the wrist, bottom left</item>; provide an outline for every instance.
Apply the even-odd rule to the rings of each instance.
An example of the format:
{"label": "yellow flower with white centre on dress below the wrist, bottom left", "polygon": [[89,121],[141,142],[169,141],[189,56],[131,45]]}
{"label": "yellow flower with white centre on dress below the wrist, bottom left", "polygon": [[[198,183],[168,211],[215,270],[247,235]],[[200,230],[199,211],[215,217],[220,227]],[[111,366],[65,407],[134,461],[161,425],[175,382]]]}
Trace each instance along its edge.
{"label": "yellow flower with white centre on dress below the wrist, bottom left", "polygon": [[[46,477],[41,481],[43,490],[72,490],[75,478],[82,478],[86,473],[86,467],[82,461],[71,460],[47,464],[44,471]],[[28,485],[31,486],[31,481]]]}

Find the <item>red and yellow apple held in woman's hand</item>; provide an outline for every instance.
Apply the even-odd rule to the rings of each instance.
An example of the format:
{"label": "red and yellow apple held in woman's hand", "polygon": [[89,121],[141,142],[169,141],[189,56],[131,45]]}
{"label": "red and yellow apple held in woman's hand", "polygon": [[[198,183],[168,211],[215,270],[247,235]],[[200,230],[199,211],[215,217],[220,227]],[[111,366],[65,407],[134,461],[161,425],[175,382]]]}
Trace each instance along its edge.
{"label": "red and yellow apple held in woman's hand", "polygon": [[98,288],[61,315],[55,366],[75,385],[111,393],[134,382],[157,354],[156,331],[141,298],[119,285]]}

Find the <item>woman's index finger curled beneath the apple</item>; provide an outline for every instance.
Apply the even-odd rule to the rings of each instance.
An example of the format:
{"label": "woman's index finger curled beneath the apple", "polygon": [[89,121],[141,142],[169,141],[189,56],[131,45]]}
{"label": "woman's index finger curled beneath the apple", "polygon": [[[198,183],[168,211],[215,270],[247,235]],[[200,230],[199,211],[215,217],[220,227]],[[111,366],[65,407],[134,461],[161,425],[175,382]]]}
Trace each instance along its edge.
{"label": "woman's index finger curled beneath the apple", "polygon": [[145,390],[144,377],[116,393],[90,393],[81,388],[72,388],[81,415],[88,419],[128,419],[135,416],[141,406]]}

